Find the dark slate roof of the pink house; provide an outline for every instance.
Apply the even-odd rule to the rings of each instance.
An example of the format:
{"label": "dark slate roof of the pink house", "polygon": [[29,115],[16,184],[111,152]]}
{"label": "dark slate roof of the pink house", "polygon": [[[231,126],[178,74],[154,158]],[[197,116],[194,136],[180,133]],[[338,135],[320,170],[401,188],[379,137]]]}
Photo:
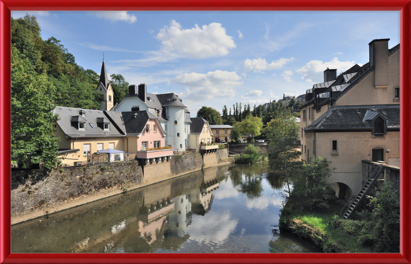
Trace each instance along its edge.
{"label": "dark slate roof of the pink house", "polygon": [[[127,136],[140,136],[141,132],[143,132],[145,128],[145,125],[147,124],[148,119],[157,119],[156,116],[147,111],[130,111],[121,113],[123,115]],[[135,114],[137,114],[137,118],[133,118]],[[157,129],[161,130],[163,134],[165,134],[161,126],[158,126]]]}

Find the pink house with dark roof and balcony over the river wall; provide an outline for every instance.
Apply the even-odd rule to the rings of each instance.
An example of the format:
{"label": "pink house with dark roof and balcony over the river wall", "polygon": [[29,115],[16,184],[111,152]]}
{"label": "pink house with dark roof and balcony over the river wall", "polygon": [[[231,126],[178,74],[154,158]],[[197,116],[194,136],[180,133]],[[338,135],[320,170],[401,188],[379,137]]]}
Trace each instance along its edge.
{"label": "pink house with dark roof and balcony over the river wall", "polygon": [[165,132],[157,117],[147,111],[122,112],[127,152],[137,153],[145,163],[170,159],[173,147],[164,146]]}

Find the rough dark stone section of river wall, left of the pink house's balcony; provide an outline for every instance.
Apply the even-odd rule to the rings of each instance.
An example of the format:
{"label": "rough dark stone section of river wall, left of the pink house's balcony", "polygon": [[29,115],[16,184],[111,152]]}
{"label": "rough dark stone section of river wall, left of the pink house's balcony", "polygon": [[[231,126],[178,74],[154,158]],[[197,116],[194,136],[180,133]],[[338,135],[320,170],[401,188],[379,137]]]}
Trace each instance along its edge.
{"label": "rough dark stone section of river wall, left of the pink house's balcony", "polygon": [[142,182],[143,173],[137,161],[13,171],[11,217],[38,210],[51,213],[55,206],[78,197],[95,196],[107,189],[130,189]]}

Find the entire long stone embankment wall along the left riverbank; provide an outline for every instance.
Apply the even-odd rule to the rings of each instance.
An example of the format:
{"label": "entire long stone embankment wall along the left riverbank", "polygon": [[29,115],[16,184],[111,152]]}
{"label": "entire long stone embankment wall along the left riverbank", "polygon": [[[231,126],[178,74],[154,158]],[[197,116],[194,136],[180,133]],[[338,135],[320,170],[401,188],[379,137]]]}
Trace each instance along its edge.
{"label": "entire long stone embankment wall along the left riverbank", "polygon": [[140,164],[137,160],[11,173],[11,224],[225,164],[228,149]]}

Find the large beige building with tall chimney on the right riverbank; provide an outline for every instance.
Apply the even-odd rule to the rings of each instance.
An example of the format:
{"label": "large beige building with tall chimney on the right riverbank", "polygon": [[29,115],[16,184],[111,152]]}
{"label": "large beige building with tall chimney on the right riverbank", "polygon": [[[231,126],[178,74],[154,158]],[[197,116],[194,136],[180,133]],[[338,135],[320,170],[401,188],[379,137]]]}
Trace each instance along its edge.
{"label": "large beige building with tall chimney on the right riverbank", "polygon": [[388,49],[388,40],[369,43],[363,66],[338,76],[327,68],[300,108],[301,158],[332,161],[328,181],[341,198],[360,184],[361,160],[400,166],[400,45]]}

